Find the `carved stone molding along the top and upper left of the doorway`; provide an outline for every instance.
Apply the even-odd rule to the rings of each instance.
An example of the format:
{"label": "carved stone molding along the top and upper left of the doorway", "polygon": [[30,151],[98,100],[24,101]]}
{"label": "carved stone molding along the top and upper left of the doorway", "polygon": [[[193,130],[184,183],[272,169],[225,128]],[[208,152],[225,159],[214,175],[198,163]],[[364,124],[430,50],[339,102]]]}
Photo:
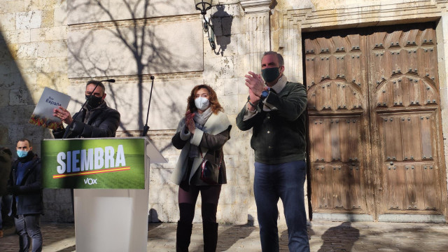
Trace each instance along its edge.
{"label": "carved stone molding along the top and upper left of the doorway", "polygon": [[[278,50],[285,59],[285,73],[293,81],[302,81],[302,32],[391,25],[419,20],[434,21],[447,11],[447,0],[422,0],[413,3],[379,4],[371,6],[344,6],[335,9],[302,8],[276,10],[279,29],[273,31],[272,50]],[[278,11],[278,12],[277,12]]]}

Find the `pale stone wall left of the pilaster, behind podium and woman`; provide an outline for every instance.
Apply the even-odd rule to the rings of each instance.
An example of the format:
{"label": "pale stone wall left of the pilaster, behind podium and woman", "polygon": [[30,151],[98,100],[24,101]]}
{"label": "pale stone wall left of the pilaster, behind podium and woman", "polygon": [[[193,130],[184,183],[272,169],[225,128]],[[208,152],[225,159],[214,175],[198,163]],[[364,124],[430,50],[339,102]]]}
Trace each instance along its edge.
{"label": "pale stone wall left of the pilaster, behind podium and woman", "polygon": [[[243,42],[248,34],[239,28],[241,6],[232,3],[215,8],[216,54],[202,31],[202,17],[190,1],[150,1],[147,11],[142,1],[127,3],[1,2],[8,8],[0,10],[5,45],[1,55],[1,85],[5,88],[0,95],[6,98],[1,101],[0,144],[13,148],[15,141],[26,136],[40,153],[39,141],[52,136],[27,120],[43,87],[71,95],[69,111],[74,112],[83,102],[85,82],[105,77],[117,80],[106,85],[106,102],[122,114],[118,135],[138,135],[146,119],[149,77],[154,75],[148,124],[151,139],[169,162],[151,169],[151,221],[177,221],[177,186],[168,180],[179,156],[170,143],[174,129],[185,113],[191,88],[201,83],[216,89],[235,122],[242,106],[239,90],[247,68]],[[235,127],[225,146],[229,185],[223,187],[218,212],[222,222],[247,222],[251,201],[247,136],[248,132]],[[45,189],[44,201],[47,214],[43,221],[73,221],[69,190]],[[195,221],[199,220],[197,211]]]}

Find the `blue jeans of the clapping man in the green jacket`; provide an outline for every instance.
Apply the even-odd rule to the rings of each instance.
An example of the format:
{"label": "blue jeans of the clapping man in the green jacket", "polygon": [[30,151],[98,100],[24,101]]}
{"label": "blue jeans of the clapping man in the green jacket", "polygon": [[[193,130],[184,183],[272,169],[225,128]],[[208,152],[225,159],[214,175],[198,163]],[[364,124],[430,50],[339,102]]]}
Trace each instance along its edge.
{"label": "blue jeans of the clapping man in the green jacket", "polygon": [[306,167],[306,162],[303,160],[279,165],[255,162],[253,191],[260,225],[262,251],[279,251],[277,228],[279,198],[283,202],[286,225],[288,225],[289,251],[309,251],[303,192]]}

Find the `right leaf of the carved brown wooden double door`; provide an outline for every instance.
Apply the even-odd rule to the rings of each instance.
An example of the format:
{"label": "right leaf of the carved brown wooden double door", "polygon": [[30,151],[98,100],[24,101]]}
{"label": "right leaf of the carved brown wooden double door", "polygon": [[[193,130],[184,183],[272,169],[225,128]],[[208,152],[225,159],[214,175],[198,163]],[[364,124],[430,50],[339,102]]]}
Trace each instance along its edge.
{"label": "right leaf of the carved brown wooden double door", "polygon": [[[444,214],[440,206],[446,204],[441,186],[446,183],[441,179],[445,175],[435,169],[443,162],[435,158],[441,151],[437,148],[441,139],[435,138],[440,135],[435,134],[440,129],[435,123],[440,121],[435,30],[430,24],[381,29],[379,36],[367,35],[367,48],[373,48],[367,59],[369,113],[370,118],[378,118],[372,120],[370,143],[373,160],[377,160],[372,169],[380,178],[374,187],[377,216]],[[384,46],[378,48],[384,31]],[[381,70],[381,80],[370,73],[382,68],[388,69]],[[433,169],[428,169],[428,161],[435,161]],[[381,169],[375,168],[375,163]],[[439,175],[430,176],[432,171]],[[430,190],[436,193],[430,194]]]}

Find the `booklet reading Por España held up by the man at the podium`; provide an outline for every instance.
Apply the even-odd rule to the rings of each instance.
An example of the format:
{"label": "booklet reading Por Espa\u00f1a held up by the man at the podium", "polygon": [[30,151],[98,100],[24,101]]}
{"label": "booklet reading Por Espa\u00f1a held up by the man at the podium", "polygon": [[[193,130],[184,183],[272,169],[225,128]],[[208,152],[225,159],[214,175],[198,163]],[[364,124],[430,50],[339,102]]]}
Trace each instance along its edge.
{"label": "booklet reading Por Espa\u00f1a held up by the man at the podium", "polygon": [[62,127],[62,120],[53,116],[53,109],[57,109],[59,106],[66,108],[69,102],[69,95],[45,87],[41,99],[39,99],[31,118],[29,118],[29,123],[41,127],[48,127],[51,130]]}

